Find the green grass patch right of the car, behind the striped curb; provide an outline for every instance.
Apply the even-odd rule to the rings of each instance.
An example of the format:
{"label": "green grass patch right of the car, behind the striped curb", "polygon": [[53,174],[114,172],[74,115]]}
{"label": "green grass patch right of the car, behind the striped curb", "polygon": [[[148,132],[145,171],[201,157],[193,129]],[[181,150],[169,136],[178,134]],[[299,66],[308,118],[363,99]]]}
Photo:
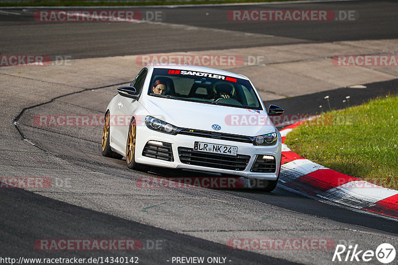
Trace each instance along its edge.
{"label": "green grass patch right of the car, behind the striped curb", "polygon": [[292,151],[315,163],[398,190],[398,97],[331,111],[286,137]]}

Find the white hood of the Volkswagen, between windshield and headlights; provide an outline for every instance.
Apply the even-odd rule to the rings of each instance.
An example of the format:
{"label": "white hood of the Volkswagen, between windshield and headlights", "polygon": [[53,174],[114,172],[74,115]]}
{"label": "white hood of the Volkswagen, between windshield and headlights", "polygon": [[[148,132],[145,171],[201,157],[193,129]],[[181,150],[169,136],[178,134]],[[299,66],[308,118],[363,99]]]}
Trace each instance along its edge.
{"label": "white hood of the Volkswagen, between windshield and headlights", "polygon": [[265,111],[148,96],[143,106],[149,114],[179,128],[257,136],[276,131]]}

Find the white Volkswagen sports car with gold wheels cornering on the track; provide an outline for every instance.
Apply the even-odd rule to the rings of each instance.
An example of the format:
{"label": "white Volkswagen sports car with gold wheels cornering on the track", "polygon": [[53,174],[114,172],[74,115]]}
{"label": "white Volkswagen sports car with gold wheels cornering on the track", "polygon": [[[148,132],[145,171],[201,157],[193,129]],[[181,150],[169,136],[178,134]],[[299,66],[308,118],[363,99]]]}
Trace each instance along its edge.
{"label": "white Volkswagen sports car with gold wheels cornering on the track", "polygon": [[130,169],[190,169],[268,181],[281,168],[281,134],[251,81],[202,66],[153,64],[109,102],[102,155]]}

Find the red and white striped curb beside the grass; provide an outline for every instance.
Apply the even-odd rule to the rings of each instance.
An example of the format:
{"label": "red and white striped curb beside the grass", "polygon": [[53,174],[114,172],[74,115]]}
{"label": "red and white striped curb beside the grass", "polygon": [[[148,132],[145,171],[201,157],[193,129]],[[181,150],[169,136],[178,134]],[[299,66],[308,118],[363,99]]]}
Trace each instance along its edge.
{"label": "red and white striped curb beside the grass", "polygon": [[358,210],[398,218],[398,191],[331,170],[291,151],[285,137],[301,121],[282,129],[282,167],[280,181],[301,194],[336,202]]}

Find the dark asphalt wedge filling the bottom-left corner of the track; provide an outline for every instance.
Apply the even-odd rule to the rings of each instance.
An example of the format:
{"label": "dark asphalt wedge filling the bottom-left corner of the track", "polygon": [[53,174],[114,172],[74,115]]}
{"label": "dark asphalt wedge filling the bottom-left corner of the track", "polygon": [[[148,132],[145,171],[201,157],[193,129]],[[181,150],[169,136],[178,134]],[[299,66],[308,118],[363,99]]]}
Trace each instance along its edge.
{"label": "dark asphalt wedge filling the bottom-left corner of the track", "polygon": [[[231,250],[225,245],[128,221],[25,190],[0,189],[0,201],[2,258],[128,257],[130,260],[138,257],[139,264],[149,265],[168,264],[167,261],[178,253],[179,257],[228,257],[231,264],[296,264],[253,252]],[[65,257],[63,250],[35,249],[35,241],[40,239],[136,239],[142,242],[142,249],[69,250]]]}

